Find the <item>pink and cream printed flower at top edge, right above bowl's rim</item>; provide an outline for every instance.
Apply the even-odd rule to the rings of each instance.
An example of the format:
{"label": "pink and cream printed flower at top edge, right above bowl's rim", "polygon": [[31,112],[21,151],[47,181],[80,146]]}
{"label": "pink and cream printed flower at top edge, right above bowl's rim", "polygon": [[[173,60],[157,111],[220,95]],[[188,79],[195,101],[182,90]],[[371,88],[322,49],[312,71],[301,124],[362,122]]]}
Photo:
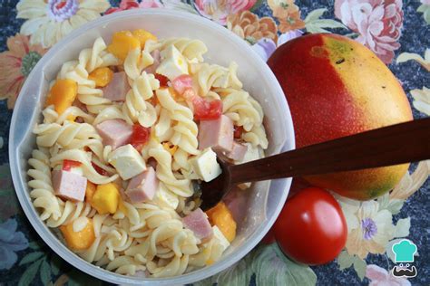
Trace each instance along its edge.
{"label": "pink and cream printed flower at top edge, right above bowl's rim", "polygon": [[219,24],[226,24],[230,14],[248,11],[257,0],[196,0],[194,5],[201,15]]}

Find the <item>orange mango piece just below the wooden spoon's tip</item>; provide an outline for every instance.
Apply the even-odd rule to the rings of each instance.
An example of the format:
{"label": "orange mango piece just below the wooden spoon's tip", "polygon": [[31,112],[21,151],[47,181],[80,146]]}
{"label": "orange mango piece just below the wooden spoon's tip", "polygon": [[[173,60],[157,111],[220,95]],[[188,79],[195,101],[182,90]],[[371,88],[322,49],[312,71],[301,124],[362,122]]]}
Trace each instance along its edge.
{"label": "orange mango piece just below the wooden spoon's tip", "polygon": [[206,215],[208,215],[210,224],[212,226],[217,225],[221,233],[231,243],[236,237],[236,222],[227,205],[220,202],[207,211]]}

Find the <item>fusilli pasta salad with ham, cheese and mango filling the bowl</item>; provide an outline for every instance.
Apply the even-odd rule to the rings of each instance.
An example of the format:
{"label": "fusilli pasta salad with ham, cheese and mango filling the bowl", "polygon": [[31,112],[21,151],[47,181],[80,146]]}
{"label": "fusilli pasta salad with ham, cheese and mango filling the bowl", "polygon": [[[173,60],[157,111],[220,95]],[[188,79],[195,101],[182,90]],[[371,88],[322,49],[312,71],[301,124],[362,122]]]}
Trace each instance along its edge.
{"label": "fusilli pasta salad with ham, cheese and mango filling the bowl", "polygon": [[199,40],[121,31],[64,62],[50,83],[30,196],[85,261],[170,277],[217,262],[234,240],[230,209],[204,213],[198,185],[220,175],[217,157],[258,159],[268,139],[237,64],[210,64],[205,52]]}

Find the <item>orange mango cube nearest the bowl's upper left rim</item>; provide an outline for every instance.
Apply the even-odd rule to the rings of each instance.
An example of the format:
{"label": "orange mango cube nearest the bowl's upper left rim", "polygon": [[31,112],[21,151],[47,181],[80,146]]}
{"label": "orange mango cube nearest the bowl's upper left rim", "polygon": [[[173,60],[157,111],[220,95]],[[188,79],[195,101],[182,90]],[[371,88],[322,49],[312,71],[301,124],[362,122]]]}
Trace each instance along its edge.
{"label": "orange mango cube nearest the bowl's upper left rim", "polygon": [[77,92],[78,84],[76,81],[68,79],[57,80],[49,92],[46,106],[54,104],[55,111],[61,115],[64,110],[72,106]]}

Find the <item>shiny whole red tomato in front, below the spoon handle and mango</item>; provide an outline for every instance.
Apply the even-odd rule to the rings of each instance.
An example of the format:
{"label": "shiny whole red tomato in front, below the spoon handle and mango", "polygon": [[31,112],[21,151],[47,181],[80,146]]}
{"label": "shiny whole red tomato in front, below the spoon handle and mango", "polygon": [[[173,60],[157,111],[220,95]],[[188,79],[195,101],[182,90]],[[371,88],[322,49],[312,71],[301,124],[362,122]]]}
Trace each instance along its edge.
{"label": "shiny whole red tomato in front, below the spoon handle and mango", "polygon": [[289,198],[273,230],[282,251],[306,264],[331,262],[347,243],[347,221],[340,205],[319,187]]}

